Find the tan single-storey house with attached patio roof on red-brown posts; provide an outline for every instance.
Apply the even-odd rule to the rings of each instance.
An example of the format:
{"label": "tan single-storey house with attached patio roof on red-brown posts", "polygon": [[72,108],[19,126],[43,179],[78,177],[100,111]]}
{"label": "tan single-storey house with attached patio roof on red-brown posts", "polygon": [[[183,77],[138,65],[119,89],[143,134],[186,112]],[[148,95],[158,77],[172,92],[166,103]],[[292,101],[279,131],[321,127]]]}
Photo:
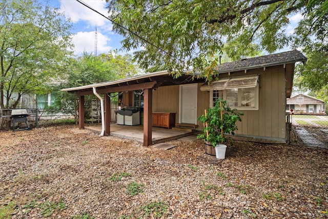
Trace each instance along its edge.
{"label": "tan single-storey house with attached patio roof on red-brown posts", "polygon": [[[306,57],[294,50],[221,64],[217,71],[219,79],[210,84],[202,78],[192,79],[190,74],[174,78],[170,71],[159,71],[62,91],[79,96],[80,129],[84,128],[84,95],[123,92],[119,97],[121,106],[142,108],[145,146],[152,144],[155,112],[173,112],[176,124],[192,124],[202,130],[203,124],[197,117],[219,97],[244,113],[236,135],[285,143],[286,98],[291,97],[295,63],[305,61]],[[106,112],[111,110],[110,98],[109,95],[104,98],[104,134],[109,135],[110,115]]]}

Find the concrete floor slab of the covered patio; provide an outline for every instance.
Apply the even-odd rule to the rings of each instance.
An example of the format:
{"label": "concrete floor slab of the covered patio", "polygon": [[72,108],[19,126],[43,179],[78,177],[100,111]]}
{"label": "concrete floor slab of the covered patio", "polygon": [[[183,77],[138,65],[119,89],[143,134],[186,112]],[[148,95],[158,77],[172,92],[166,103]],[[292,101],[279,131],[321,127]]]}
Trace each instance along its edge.
{"label": "concrete floor slab of the covered patio", "polygon": [[[85,126],[85,129],[97,133],[101,132],[101,126]],[[180,129],[152,127],[152,144],[158,144],[162,142],[176,140],[180,137],[192,135],[193,133],[194,132],[188,129],[180,130]],[[110,135],[143,143],[144,126],[143,125],[125,126],[125,125],[117,125],[112,123]]]}

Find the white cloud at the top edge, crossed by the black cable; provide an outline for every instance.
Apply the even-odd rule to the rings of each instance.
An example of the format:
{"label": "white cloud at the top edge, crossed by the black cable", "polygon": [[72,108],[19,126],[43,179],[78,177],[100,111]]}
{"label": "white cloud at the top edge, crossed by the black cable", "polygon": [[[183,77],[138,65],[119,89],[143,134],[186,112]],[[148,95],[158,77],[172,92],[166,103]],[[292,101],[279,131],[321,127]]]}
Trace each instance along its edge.
{"label": "white cloud at the top edge, crossed by the black cable", "polygon": [[[106,1],[84,0],[83,3],[101,14],[108,16],[108,10],[105,8]],[[106,25],[109,22],[105,17],[99,15],[77,1],[60,0],[60,10],[63,11],[67,17],[70,17],[73,23],[83,21],[89,26],[95,27]]]}

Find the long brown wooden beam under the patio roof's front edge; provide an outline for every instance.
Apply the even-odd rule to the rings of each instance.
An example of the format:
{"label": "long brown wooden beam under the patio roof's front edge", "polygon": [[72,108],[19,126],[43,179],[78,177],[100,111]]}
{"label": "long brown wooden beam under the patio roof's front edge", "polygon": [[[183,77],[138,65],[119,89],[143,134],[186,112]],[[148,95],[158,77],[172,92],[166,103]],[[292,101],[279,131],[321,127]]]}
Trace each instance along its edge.
{"label": "long brown wooden beam under the patio roof's front edge", "polygon": [[[141,89],[150,89],[150,88],[158,88],[162,83],[154,82],[147,82],[142,84],[135,84],[135,85],[126,85],[126,86],[119,86],[119,87],[110,87],[110,88],[97,88],[97,93],[104,94],[104,93],[115,93],[115,92],[124,92],[124,91],[133,91],[133,90],[141,90]],[[76,95],[92,95],[92,89],[90,91],[81,91],[75,92]]]}

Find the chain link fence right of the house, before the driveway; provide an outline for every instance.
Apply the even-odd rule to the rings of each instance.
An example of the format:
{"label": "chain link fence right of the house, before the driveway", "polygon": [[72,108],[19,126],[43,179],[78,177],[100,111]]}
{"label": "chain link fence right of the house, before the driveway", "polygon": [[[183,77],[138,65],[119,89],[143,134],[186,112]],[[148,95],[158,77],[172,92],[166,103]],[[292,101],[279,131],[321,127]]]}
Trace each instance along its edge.
{"label": "chain link fence right of the house, before the driveway", "polygon": [[328,115],[290,114],[290,144],[328,148]]}

